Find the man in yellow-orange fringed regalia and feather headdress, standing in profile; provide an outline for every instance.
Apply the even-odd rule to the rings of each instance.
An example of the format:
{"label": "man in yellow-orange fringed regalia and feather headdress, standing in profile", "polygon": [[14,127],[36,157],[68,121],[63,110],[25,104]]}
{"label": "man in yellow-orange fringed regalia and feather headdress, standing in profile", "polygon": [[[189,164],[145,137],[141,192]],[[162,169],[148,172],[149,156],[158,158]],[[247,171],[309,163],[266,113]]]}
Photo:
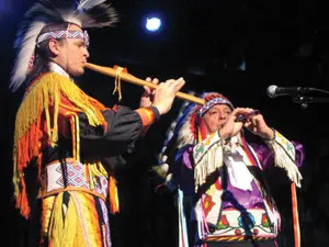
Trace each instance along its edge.
{"label": "man in yellow-orange fringed regalia and feather headdress, standing in profile", "polygon": [[118,194],[107,158],[132,149],[184,85],[145,88],[137,110],[110,109],[84,93],[73,80],[89,58],[84,27],[115,19],[104,0],[41,0],[18,33],[10,87],[26,90],[15,119],[13,183],[21,214],[39,222],[33,246],[111,246],[107,212],[118,212]]}

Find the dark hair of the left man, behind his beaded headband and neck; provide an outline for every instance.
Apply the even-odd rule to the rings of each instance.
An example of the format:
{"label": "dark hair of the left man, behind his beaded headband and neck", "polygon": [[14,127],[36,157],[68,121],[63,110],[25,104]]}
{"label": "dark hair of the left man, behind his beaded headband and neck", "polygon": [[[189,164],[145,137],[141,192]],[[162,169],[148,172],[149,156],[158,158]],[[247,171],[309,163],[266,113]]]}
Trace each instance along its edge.
{"label": "dark hair of the left man, behind his beaded headband and neck", "polygon": [[[67,22],[49,23],[42,29],[39,35],[52,31],[67,30],[68,24],[69,23]],[[25,79],[26,87],[29,87],[31,82],[34,81],[35,78],[37,78],[39,75],[49,71],[49,58],[53,56],[53,53],[50,52],[48,44],[49,44],[49,40],[44,41],[36,45],[33,67],[31,71],[27,74],[27,77]]]}

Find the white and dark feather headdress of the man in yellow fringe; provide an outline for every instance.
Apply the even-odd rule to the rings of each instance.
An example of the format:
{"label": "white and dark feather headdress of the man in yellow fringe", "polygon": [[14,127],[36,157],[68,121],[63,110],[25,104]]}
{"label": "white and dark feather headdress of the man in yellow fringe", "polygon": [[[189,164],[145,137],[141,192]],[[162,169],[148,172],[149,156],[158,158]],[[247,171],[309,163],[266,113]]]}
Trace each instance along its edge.
{"label": "white and dark feather headdress of the man in yellow fringe", "polygon": [[106,0],[39,0],[25,13],[14,47],[18,56],[13,66],[10,89],[15,91],[29,74],[36,41],[48,23],[73,23],[81,29],[110,26],[117,14]]}

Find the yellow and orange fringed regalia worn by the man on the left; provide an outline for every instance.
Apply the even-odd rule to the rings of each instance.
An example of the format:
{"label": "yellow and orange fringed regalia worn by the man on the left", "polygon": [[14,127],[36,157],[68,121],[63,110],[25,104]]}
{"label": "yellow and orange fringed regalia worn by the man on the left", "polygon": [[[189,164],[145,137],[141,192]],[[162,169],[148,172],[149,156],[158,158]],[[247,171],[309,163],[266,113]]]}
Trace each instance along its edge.
{"label": "yellow and orange fringed regalia worn by the man on the left", "polygon": [[[101,246],[100,243],[106,243],[104,238],[110,239],[110,236],[106,236],[106,233],[110,233],[109,229],[95,226],[101,216],[95,210],[91,210],[89,204],[94,203],[94,197],[103,201],[109,197],[110,212],[118,212],[116,181],[113,171],[106,171],[100,160],[81,164],[78,117],[78,113],[83,112],[91,126],[102,126],[103,130],[106,130],[106,122],[102,115],[102,111],[105,109],[102,103],[87,96],[69,78],[47,72],[38,77],[27,89],[18,111],[13,148],[13,183],[16,207],[24,217],[30,216],[24,169],[32,160],[36,160],[38,179],[42,184],[39,191],[39,198],[43,200],[42,236],[43,238],[46,236],[54,247]],[[70,126],[72,141],[72,158],[66,165],[83,169],[88,184],[83,188],[69,187],[46,191],[45,183],[47,181],[45,181],[44,173],[49,166],[44,164],[42,150],[49,145],[57,145],[59,133],[64,130],[64,122]],[[109,182],[107,191],[103,194],[93,190],[94,182],[101,178],[106,178],[106,182]],[[70,195],[65,211],[63,209],[64,192]],[[101,207],[104,205],[101,203]],[[63,217],[64,213],[65,217]],[[102,218],[102,221],[106,220]],[[101,227],[109,226],[104,224]],[[89,235],[94,235],[94,237],[86,237]]]}

